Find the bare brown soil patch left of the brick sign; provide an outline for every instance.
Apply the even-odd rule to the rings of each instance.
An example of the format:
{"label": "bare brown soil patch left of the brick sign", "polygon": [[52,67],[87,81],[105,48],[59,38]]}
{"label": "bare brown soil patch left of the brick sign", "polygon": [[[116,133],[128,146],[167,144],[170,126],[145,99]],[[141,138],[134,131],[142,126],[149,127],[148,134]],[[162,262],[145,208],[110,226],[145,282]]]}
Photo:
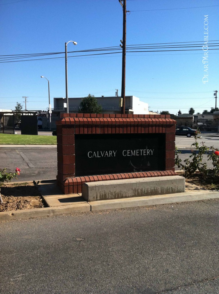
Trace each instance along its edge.
{"label": "bare brown soil patch left of the brick sign", "polygon": [[1,198],[0,212],[44,207],[38,188],[33,183],[4,183]]}

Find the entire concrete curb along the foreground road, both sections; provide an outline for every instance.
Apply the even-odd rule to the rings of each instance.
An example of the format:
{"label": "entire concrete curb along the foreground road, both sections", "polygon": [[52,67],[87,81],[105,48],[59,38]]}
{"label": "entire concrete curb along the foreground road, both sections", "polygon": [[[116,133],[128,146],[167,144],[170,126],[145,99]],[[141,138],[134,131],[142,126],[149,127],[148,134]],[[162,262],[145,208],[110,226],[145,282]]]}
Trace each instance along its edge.
{"label": "entire concrete curb along the foreground road, both sections", "polygon": [[109,209],[122,209],[141,206],[153,206],[177,202],[190,202],[219,198],[219,191],[183,192],[166,195],[122,198],[114,200],[91,201],[87,203],[71,204],[66,206],[33,208],[0,212],[0,221],[19,218],[35,218],[43,216],[58,216],[81,212],[92,212]]}

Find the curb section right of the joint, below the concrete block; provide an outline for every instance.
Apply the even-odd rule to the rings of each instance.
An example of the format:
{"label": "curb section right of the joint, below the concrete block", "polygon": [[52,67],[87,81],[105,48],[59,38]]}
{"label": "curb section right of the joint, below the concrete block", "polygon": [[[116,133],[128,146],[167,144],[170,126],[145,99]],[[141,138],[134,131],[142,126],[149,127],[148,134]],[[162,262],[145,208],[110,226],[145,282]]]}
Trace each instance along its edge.
{"label": "curb section right of the joint, below the concrete block", "polygon": [[153,206],[160,204],[176,203],[176,202],[188,202],[219,198],[219,191],[206,191],[203,192],[185,192],[175,193],[167,195],[156,195],[156,196],[144,196],[144,197],[133,197],[123,198],[114,200],[101,200],[88,202],[91,206],[91,211],[108,210],[108,209],[121,209],[131,208],[137,206]]}

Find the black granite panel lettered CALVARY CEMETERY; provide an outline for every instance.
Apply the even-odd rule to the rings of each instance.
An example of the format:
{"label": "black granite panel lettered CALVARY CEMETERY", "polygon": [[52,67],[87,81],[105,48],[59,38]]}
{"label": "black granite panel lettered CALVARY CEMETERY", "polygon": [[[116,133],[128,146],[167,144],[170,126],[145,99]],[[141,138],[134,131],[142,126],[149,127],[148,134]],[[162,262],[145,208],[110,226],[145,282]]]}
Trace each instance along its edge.
{"label": "black granite panel lettered CALVARY CEMETERY", "polygon": [[75,176],[165,169],[165,134],[75,135]]}

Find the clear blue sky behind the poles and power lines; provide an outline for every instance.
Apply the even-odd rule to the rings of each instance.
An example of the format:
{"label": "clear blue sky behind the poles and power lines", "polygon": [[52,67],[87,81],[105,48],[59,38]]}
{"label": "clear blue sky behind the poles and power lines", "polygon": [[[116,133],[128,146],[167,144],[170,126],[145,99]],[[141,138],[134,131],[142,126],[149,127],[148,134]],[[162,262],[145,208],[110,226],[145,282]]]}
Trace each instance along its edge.
{"label": "clear blue sky behind the poles and power lines", "polygon": [[[217,0],[127,0],[127,10],[131,11],[127,14],[127,45],[203,44],[204,15],[208,15],[209,40],[219,40]],[[78,45],[69,43],[68,52],[119,46],[122,7],[118,0],[0,0],[0,28],[0,55],[64,52],[70,40]],[[213,91],[219,91],[219,52],[208,52],[205,84],[202,50],[127,52],[126,95],[139,97],[153,111],[210,110],[215,107]],[[68,53],[72,55],[80,54]],[[46,57],[50,56],[39,58]],[[53,97],[65,97],[64,58],[1,63],[0,68],[0,108],[14,109],[16,102],[24,105],[22,96],[28,96],[28,110],[46,110],[48,83],[41,75],[50,81],[52,107]],[[122,53],[68,57],[68,96],[114,96],[115,89],[120,95],[121,75]]]}

